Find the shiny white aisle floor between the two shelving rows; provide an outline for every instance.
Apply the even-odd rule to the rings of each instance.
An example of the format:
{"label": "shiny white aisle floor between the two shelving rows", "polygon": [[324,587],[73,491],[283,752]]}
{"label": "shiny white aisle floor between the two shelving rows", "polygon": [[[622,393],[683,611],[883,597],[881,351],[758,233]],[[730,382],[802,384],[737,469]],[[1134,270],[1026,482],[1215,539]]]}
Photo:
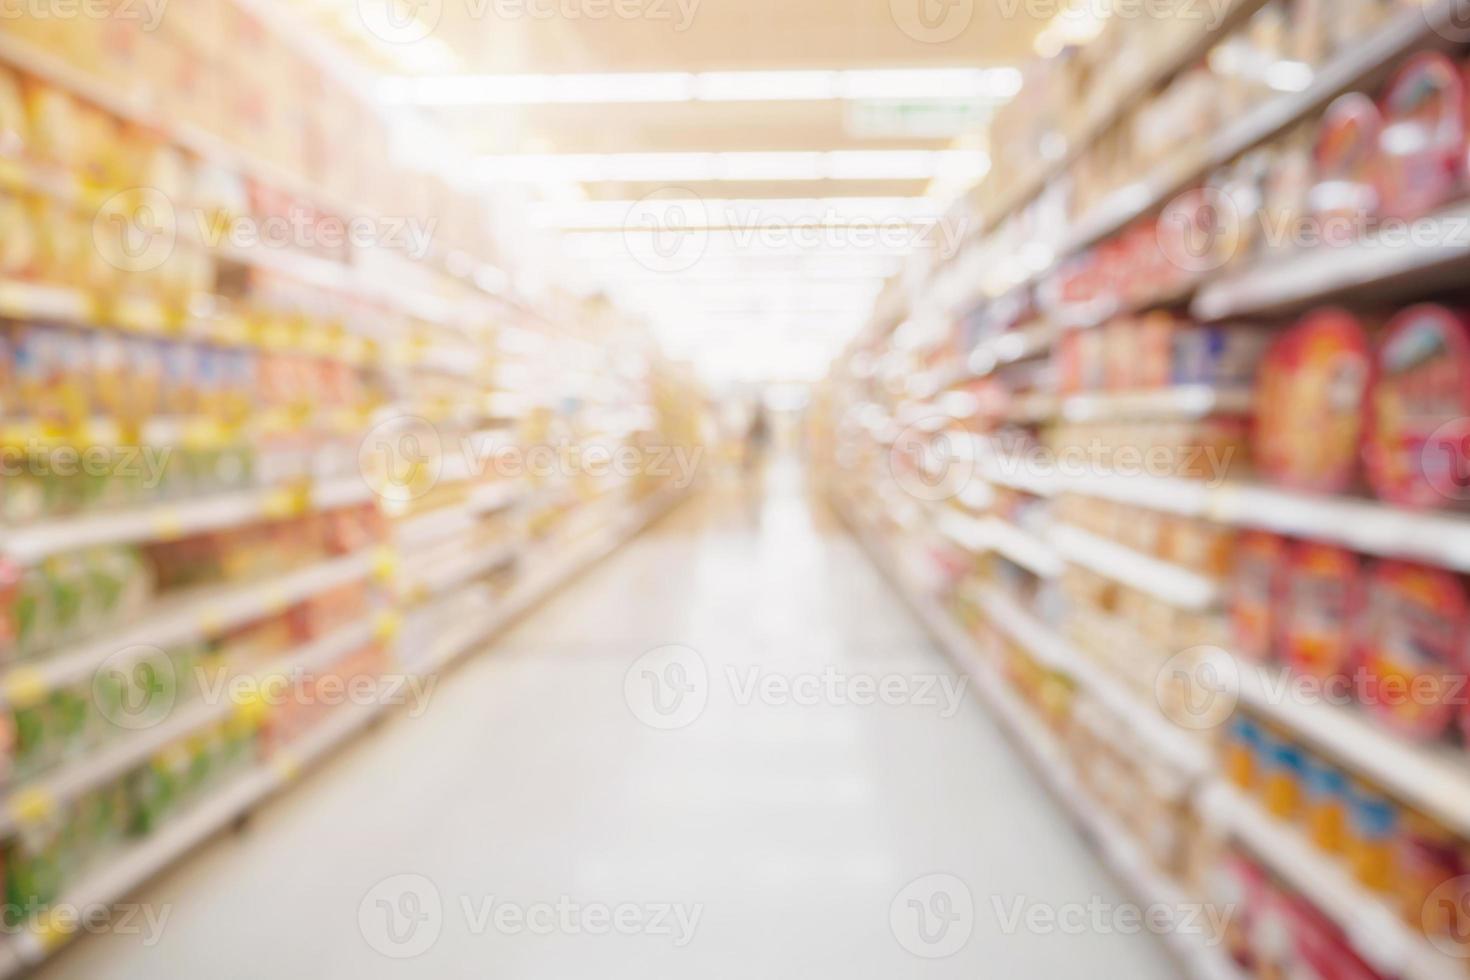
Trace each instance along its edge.
{"label": "shiny white aisle floor between the two shelving rows", "polygon": [[[694,652],[631,671],[664,645]],[[650,704],[701,664],[703,713]],[[926,696],[747,688],[828,667]],[[925,704],[936,676],[957,682],[794,473],[706,492],[140,895],[156,943],[84,937],[43,976],[1172,976],[1148,936],[1014,926],[1127,898],[973,698]]]}

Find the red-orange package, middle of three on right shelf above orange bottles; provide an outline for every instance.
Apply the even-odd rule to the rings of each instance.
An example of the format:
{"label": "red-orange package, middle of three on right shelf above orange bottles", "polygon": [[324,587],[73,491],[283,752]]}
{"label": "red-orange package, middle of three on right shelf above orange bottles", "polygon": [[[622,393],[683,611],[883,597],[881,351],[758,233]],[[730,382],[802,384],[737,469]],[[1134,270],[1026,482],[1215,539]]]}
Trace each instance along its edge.
{"label": "red-orange package, middle of three on right shelf above orange bottles", "polygon": [[1280,605],[1282,654],[1292,670],[1322,680],[1347,676],[1361,605],[1355,554],[1308,541],[1294,545]]}

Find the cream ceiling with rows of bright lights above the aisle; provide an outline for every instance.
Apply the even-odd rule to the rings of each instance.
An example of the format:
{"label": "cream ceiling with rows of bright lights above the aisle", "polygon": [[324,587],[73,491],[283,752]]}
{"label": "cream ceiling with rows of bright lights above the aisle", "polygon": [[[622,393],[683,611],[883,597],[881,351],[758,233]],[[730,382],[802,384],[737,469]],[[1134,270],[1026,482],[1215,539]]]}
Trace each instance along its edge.
{"label": "cream ceiling with rows of bright lights above the aisle", "polygon": [[[547,201],[532,217],[569,270],[714,382],[823,373],[983,175],[985,120],[1013,90],[978,69],[1020,65],[1045,26],[1016,0],[304,6],[487,179]],[[904,73],[789,75],[873,69]]]}

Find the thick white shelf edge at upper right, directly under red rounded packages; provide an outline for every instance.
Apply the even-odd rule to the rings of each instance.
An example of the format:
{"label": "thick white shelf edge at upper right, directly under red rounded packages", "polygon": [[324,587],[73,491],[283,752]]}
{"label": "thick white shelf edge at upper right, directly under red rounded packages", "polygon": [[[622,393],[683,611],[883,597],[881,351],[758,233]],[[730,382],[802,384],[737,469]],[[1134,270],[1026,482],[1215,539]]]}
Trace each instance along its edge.
{"label": "thick white shelf edge at upper right, directly under red rounded packages", "polygon": [[[1413,225],[1399,241],[1380,235],[1344,247],[1273,256],[1201,291],[1201,320],[1292,313],[1352,298],[1421,298],[1463,285],[1470,275],[1470,204],[1458,204]],[[1399,235],[1399,232],[1395,232]]]}

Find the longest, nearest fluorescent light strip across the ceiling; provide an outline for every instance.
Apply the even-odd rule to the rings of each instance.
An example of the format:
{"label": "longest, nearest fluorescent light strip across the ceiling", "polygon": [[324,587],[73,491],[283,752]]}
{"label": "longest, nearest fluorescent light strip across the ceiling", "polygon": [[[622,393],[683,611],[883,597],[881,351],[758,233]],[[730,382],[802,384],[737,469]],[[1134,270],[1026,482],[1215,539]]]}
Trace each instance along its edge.
{"label": "longest, nearest fluorescent light strip across the ceiling", "polygon": [[960,100],[1007,101],[1014,68],[916,68],[791,72],[610,72],[604,75],[441,75],[388,78],[390,103],[548,106],[670,101]]}

